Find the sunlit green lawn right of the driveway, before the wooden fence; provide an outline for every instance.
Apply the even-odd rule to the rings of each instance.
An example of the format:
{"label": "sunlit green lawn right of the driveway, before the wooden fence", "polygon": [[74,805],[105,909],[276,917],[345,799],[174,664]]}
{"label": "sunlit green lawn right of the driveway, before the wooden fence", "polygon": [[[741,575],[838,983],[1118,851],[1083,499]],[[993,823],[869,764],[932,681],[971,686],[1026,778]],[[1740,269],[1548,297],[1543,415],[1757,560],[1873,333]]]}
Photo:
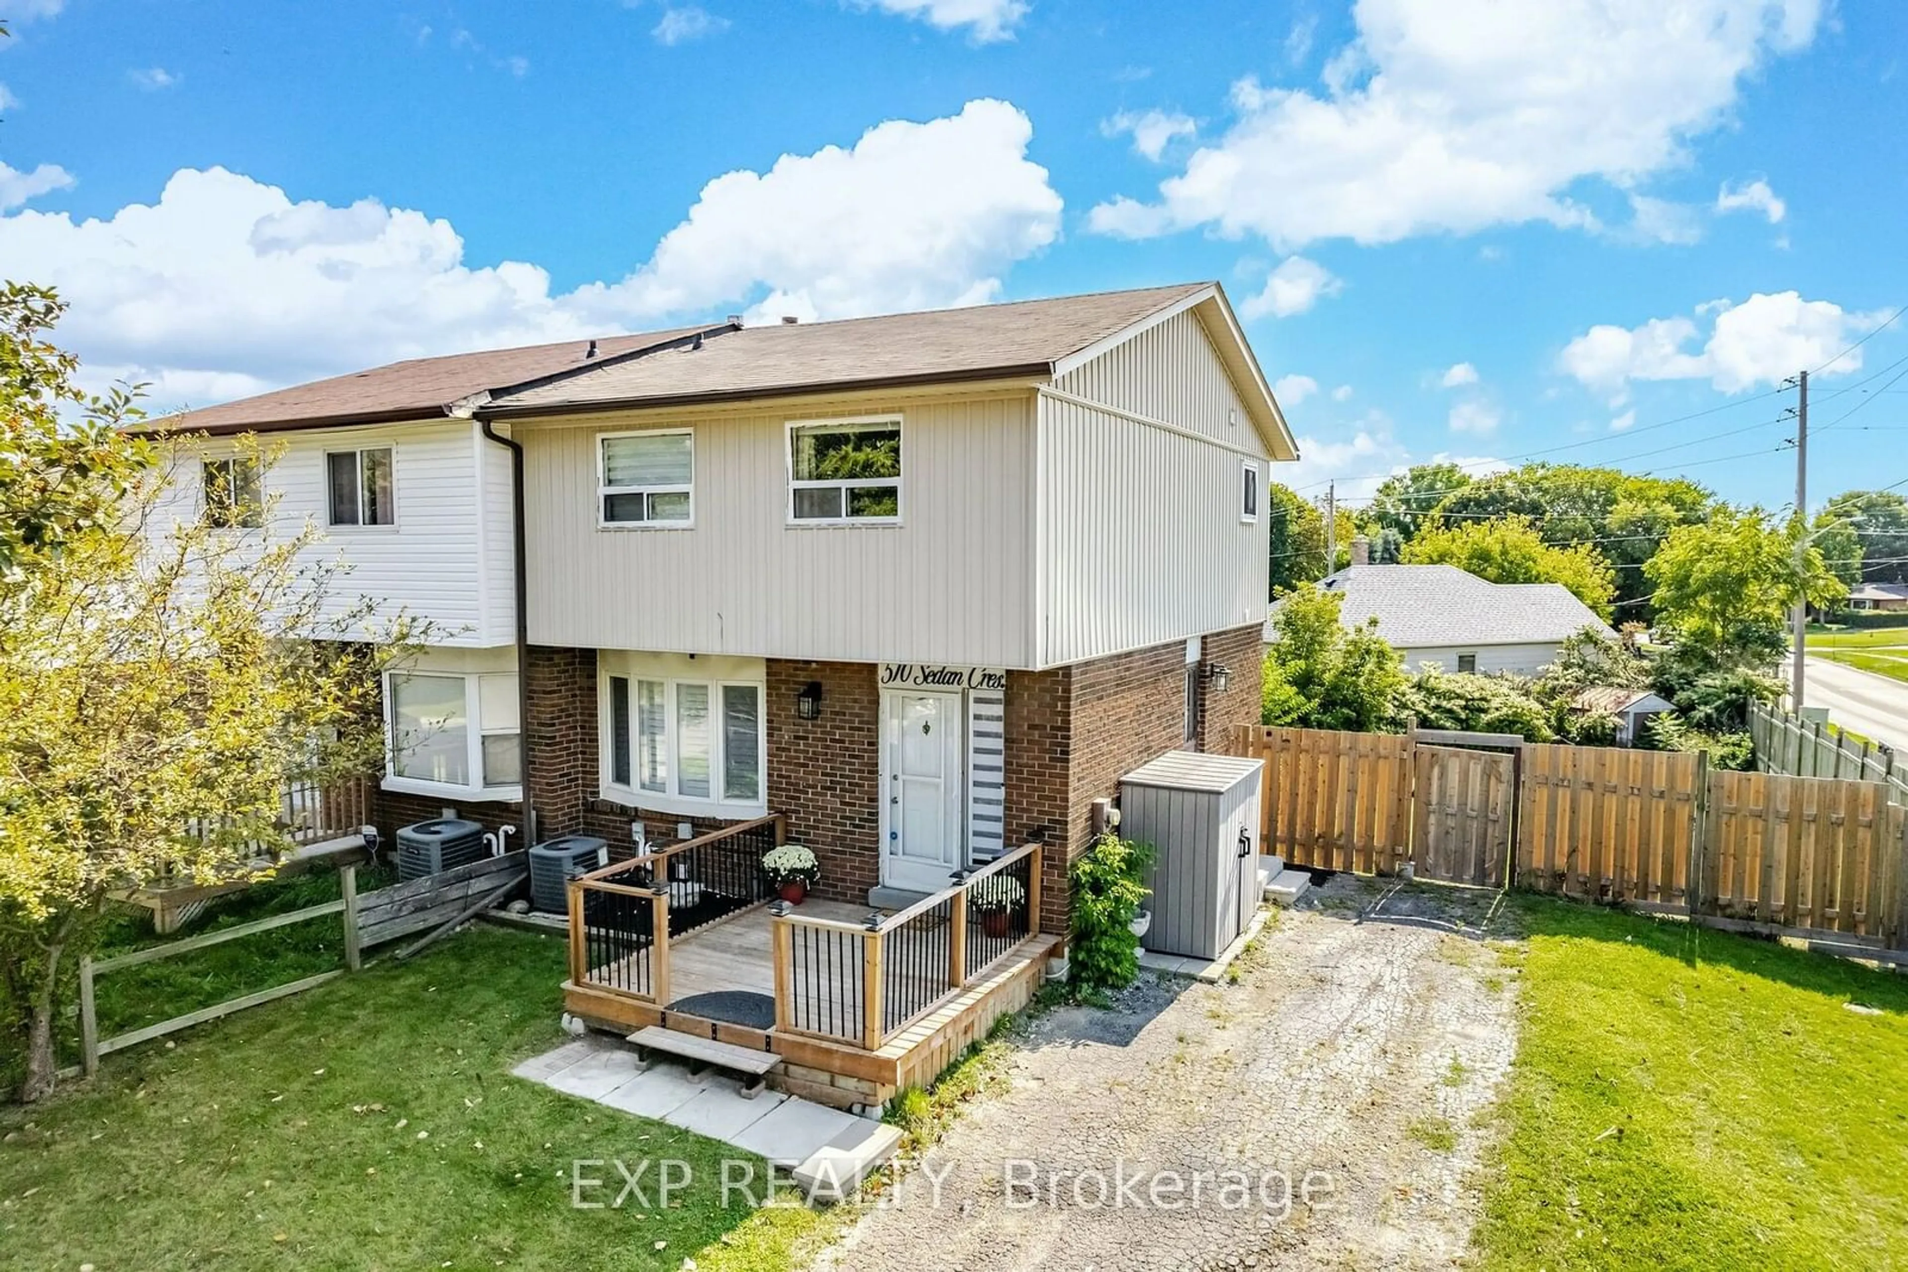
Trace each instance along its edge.
{"label": "sunlit green lawn right of the driveway, before the wooden fence", "polygon": [[1484,1173],[1483,1266],[1900,1264],[1908,976],[1517,906],[1523,1037]]}

